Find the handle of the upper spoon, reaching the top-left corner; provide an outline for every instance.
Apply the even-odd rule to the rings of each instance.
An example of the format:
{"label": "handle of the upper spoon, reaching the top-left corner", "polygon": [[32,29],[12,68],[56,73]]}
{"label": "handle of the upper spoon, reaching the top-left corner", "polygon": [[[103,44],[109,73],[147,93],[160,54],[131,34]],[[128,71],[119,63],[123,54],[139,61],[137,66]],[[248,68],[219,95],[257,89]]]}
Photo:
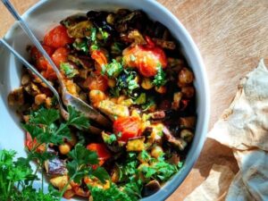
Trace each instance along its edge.
{"label": "handle of the upper spoon, reaching the top-left corner", "polygon": [[39,52],[41,54],[44,55],[44,57],[46,58],[46,61],[53,67],[54,72],[57,75],[57,78],[61,84],[61,86],[64,88],[63,85],[63,78],[62,78],[62,74],[61,72],[58,70],[58,68],[55,66],[54,62],[52,61],[52,59],[50,58],[50,56],[46,53],[46,50],[43,48],[43,46],[40,44],[40,42],[38,41],[38,38],[36,38],[36,36],[33,34],[33,32],[29,29],[29,26],[27,25],[27,23],[25,21],[22,20],[21,16],[19,13],[17,13],[17,11],[15,10],[15,8],[13,7],[13,4],[10,3],[9,0],[1,0],[3,2],[3,4],[5,5],[5,7],[7,8],[7,10],[12,13],[13,17],[20,22],[21,28],[27,33],[27,35],[29,36],[29,39],[32,41],[32,43],[38,48]]}

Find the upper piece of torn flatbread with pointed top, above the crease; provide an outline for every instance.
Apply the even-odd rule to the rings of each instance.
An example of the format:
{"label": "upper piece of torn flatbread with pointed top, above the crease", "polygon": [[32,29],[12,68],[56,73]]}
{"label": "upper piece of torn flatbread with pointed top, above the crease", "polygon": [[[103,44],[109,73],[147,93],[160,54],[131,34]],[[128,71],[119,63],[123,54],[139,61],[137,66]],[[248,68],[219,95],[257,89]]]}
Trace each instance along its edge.
{"label": "upper piece of torn flatbread with pointed top, above the crease", "polygon": [[264,60],[241,80],[233,102],[208,137],[239,150],[258,147],[268,151],[268,71]]}

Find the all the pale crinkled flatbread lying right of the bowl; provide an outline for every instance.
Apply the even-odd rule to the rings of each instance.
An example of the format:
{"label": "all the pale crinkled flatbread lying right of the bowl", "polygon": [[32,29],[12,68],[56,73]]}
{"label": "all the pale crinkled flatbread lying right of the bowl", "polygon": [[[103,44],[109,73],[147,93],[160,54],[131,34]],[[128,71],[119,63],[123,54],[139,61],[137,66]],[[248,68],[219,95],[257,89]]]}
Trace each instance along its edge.
{"label": "all the pale crinkled flatbread lying right of the bowl", "polygon": [[227,166],[213,166],[185,200],[268,200],[268,70],[264,60],[240,81],[237,95],[208,138],[232,149],[239,172],[234,176]]}

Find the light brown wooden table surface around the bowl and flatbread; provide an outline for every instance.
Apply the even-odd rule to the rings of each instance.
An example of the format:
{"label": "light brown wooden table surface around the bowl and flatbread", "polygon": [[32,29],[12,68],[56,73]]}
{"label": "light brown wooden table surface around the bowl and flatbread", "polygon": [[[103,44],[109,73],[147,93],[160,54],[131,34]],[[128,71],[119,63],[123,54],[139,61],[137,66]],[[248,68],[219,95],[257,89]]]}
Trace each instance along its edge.
{"label": "light brown wooden table surface around the bowl and flatbread", "polygon": [[[38,0],[12,0],[24,13]],[[159,0],[174,13],[194,38],[203,55],[211,90],[211,128],[230,105],[239,80],[268,59],[267,0]],[[13,24],[13,17],[0,4],[0,35]],[[268,60],[265,60],[266,63]],[[168,201],[183,200],[207,176],[213,163],[228,164],[238,171],[230,149],[213,140],[205,147],[193,168]]]}

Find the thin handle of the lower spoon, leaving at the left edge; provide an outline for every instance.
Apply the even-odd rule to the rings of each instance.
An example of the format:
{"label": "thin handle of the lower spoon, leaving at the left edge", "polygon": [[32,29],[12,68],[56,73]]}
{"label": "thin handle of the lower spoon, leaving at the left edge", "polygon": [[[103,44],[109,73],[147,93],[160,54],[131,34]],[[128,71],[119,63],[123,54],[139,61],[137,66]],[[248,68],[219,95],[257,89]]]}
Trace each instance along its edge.
{"label": "thin handle of the lower spoon, leaving at the left edge", "polygon": [[43,75],[41,75],[36,69],[35,67],[33,67],[31,64],[29,64],[29,62],[27,62],[22,56],[21,54],[19,54],[16,50],[13,49],[12,46],[10,46],[7,42],[5,42],[5,40],[3,38],[0,38],[0,44],[3,44],[10,52],[12,52],[14,54],[14,56],[20,60],[21,63],[23,63],[28,69],[29,71],[32,71],[36,76],[38,76],[38,78],[40,80],[42,80],[47,88],[49,88],[53,93],[54,96],[57,97],[57,99],[60,99],[60,96],[58,94],[58,92],[56,91],[56,89],[49,83],[49,81],[47,81]]}

